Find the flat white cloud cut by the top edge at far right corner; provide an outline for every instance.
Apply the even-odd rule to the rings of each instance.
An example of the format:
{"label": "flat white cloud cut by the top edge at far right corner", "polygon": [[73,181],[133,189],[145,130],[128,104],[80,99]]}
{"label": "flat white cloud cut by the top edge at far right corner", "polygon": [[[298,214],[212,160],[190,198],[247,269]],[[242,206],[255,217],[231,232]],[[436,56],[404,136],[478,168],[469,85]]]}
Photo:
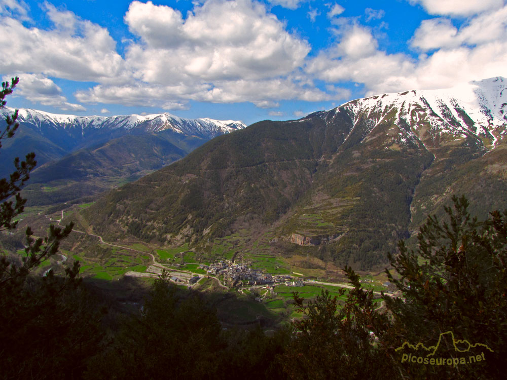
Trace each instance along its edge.
{"label": "flat white cloud cut by the top edge at far right corner", "polygon": [[496,10],[504,5],[503,0],[410,0],[421,4],[432,15],[472,16]]}

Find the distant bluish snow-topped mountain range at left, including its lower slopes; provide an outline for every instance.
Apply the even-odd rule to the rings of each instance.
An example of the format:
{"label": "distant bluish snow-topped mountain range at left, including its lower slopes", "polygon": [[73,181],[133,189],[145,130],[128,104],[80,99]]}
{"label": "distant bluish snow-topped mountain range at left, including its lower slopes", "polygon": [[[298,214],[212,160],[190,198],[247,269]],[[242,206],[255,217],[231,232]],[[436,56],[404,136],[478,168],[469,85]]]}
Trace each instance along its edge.
{"label": "distant bluish snow-topped mountain range at left, including its lower slopes", "polygon": [[[14,109],[0,109],[1,123]],[[14,138],[3,143],[0,176],[20,153],[34,151],[38,167],[24,189],[28,205],[94,195],[185,157],[209,139],[246,126],[237,121],[161,115],[73,116],[20,109]]]}

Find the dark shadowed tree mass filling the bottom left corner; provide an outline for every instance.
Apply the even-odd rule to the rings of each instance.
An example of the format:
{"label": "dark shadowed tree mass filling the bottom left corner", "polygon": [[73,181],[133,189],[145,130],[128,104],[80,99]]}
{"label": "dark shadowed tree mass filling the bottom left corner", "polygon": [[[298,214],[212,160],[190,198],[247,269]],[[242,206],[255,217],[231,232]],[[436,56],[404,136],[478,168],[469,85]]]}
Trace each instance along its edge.
{"label": "dark shadowed tree mass filling the bottom left corner", "polygon": [[78,279],[77,262],[66,272],[0,290],[0,378],[82,377],[105,333],[105,310]]}

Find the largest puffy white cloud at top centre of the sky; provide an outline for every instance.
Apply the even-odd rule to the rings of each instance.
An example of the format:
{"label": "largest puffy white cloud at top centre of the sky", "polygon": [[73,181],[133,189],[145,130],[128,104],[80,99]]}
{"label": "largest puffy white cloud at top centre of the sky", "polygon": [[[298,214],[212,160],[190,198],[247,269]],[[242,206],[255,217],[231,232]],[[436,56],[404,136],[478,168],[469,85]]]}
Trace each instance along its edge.
{"label": "largest puffy white cloud at top centre of the sky", "polygon": [[178,17],[167,6],[131,4],[125,21],[143,44],[130,46],[126,59],[137,78],[161,84],[270,78],[300,67],[310,51],[259,3],[209,0],[185,20]]}

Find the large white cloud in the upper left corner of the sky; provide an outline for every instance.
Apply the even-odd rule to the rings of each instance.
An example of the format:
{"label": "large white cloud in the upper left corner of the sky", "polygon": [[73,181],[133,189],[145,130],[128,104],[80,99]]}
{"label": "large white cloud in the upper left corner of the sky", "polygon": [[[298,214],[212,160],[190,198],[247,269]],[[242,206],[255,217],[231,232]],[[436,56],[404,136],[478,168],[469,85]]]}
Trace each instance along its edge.
{"label": "large white cloud in the upper left corner of the sky", "polygon": [[54,28],[27,28],[17,19],[0,19],[4,52],[0,55],[3,71],[39,72],[75,81],[118,81],[125,63],[116,52],[108,31],[68,11],[44,5]]}

